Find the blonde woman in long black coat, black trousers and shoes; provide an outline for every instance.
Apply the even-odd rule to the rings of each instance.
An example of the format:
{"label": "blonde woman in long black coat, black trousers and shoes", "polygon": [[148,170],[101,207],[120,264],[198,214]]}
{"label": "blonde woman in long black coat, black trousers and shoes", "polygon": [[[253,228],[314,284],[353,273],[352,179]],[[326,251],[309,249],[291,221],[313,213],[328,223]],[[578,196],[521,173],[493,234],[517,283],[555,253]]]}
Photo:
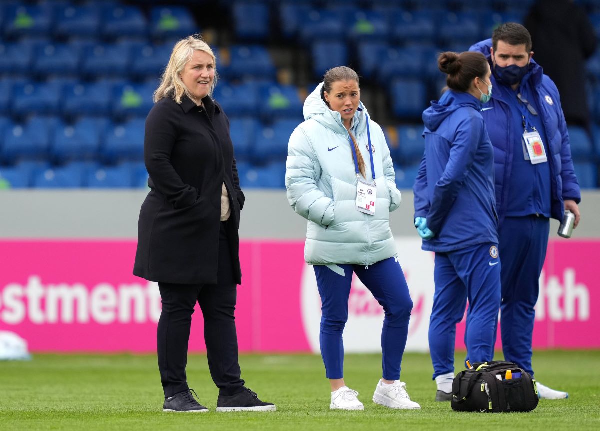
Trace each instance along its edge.
{"label": "blonde woman in long black coat, black trousers and shoes", "polygon": [[146,119],[144,158],[151,191],[142,204],[133,273],[157,281],[158,368],[164,411],[206,412],[185,366],[196,302],[204,317],[208,365],[219,387],[217,411],[275,410],[244,386],[235,327],[239,216],[244,193],[229,119],[212,100],[216,59],[198,36],[173,48]]}

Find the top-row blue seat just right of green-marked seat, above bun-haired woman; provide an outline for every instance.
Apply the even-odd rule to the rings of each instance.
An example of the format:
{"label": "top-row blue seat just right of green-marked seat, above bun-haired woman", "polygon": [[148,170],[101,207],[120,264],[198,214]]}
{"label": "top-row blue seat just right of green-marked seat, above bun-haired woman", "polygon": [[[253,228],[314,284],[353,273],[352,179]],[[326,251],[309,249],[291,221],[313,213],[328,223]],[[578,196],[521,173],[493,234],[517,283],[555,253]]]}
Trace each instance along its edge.
{"label": "top-row blue seat just right of green-marked seat, above bun-haired woman", "polygon": [[437,34],[436,22],[430,11],[413,11],[398,9],[392,17],[392,37],[400,42],[419,40],[423,43],[434,43]]}

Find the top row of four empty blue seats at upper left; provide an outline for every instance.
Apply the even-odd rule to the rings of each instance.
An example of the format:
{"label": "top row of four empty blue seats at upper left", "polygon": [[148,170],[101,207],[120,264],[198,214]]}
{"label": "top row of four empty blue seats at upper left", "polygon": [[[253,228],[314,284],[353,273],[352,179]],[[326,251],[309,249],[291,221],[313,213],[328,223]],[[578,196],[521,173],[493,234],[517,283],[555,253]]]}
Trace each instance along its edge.
{"label": "top row of four empty blue seats at upper left", "polygon": [[154,6],[146,16],[142,8],[118,2],[80,5],[66,2],[23,2],[3,0],[0,33],[14,40],[22,37],[185,37],[200,33],[186,7]]}

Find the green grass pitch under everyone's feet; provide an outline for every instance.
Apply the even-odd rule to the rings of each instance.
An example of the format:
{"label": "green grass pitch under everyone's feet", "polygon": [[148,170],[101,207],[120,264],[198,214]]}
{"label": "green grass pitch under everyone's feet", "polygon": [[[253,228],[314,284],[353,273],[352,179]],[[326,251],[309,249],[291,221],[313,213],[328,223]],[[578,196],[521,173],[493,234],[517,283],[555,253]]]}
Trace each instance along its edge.
{"label": "green grass pitch under everyone's feet", "polygon": [[[464,352],[457,352],[461,370]],[[566,400],[540,400],[527,413],[454,412],[434,402],[428,354],[404,355],[402,380],[416,411],[371,401],[381,372],[377,354],[347,354],[347,384],[364,411],[330,411],[330,389],[319,355],[242,355],[242,377],[277,412],[215,412],[218,390],[205,355],[190,355],[188,381],[208,413],[163,412],[155,355],[35,354],[0,361],[0,430],[598,430],[600,351],[536,351],[536,378],[568,390]]]}

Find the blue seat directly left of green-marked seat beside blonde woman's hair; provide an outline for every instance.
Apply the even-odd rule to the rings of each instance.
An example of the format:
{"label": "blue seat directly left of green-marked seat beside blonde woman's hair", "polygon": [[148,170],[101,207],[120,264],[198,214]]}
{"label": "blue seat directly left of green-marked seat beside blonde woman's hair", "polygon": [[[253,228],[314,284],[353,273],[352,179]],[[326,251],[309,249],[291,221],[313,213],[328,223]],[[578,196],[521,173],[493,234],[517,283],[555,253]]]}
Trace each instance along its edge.
{"label": "blue seat directly left of green-marked seat beside blonde woman's hair", "polygon": [[[93,103],[92,103],[93,101]],[[66,116],[112,113],[112,85],[106,80],[65,85],[62,112]]]}

